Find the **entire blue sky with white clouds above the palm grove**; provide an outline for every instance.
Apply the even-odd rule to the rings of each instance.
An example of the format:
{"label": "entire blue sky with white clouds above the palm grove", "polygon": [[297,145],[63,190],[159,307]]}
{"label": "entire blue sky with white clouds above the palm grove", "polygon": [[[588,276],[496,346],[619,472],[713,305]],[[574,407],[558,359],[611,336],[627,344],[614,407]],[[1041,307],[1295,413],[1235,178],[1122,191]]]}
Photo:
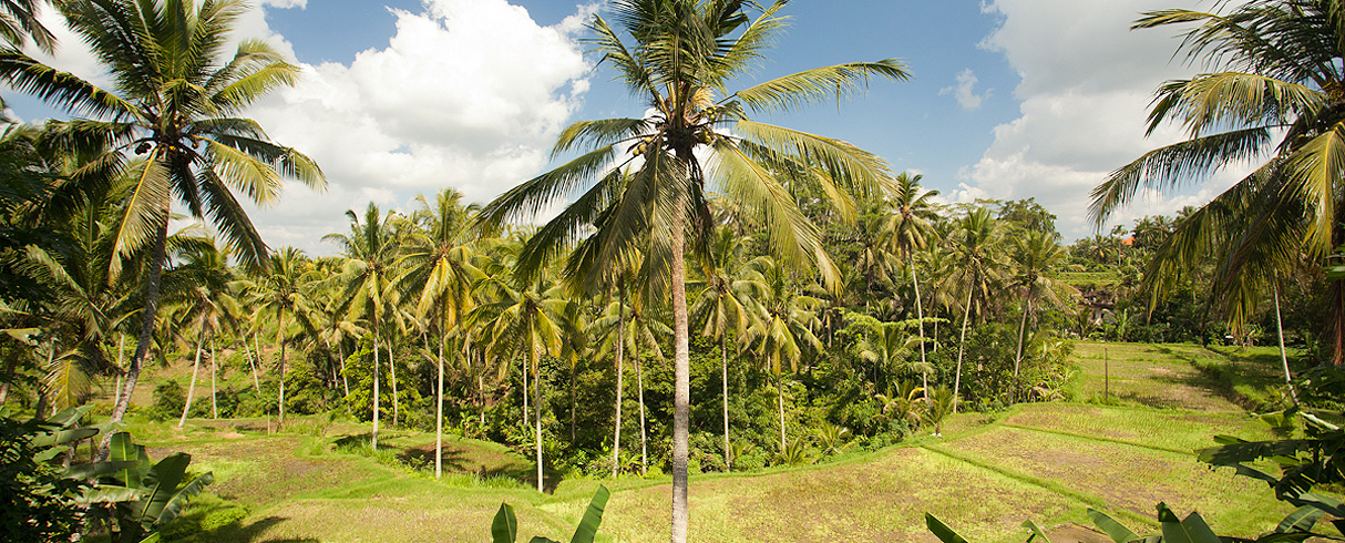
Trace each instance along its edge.
{"label": "entire blue sky with white clouds above the palm grove", "polygon": [[[612,73],[593,70],[582,23],[599,4],[543,0],[264,0],[239,22],[304,66],[304,81],[250,114],[319,160],[331,187],[288,190],[253,216],[273,246],[313,253],[347,208],[410,210],[455,187],[487,202],[547,165],[564,125],[640,114]],[[1208,4],[1208,3],[1205,3]],[[913,171],[944,202],[1037,198],[1067,238],[1089,235],[1087,191],[1176,129],[1143,137],[1153,89],[1188,70],[1171,31],[1127,30],[1184,0],[796,0],[752,79],[853,60],[902,59],[909,82],[874,81],[839,106],[771,118],[838,137]],[[1206,5],[1208,7],[1208,5]],[[599,11],[601,13],[601,11]],[[52,63],[98,81],[71,36]],[[24,120],[48,116],[4,93]],[[1233,179],[1150,195],[1115,222],[1201,203]]]}

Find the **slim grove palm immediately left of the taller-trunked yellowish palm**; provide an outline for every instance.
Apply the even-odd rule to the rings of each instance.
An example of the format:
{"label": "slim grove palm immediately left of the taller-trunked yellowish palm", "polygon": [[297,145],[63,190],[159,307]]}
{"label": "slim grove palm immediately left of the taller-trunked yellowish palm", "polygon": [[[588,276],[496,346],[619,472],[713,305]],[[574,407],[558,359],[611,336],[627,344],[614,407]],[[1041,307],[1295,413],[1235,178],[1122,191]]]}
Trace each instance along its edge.
{"label": "slim grove palm immediately left of the taller-trunked yellowish palm", "polygon": [[[370,435],[370,446],[378,449],[378,386],[379,386],[379,349],[382,348],[382,332],[386,324],[385,316],[389,308],[397,306],[397,292],[393,288],[393,265],[395,263],[397,246],[393,243],[391,233],[387,227],[391,212],[387,218],[381,218],[378,206],[371,202],[364,210],[364,220],[359,220],[354,210],[347,210],[350,218],[350,235],[327,234],[324,241],[334,241],[342,246],[346,255],[346,265],[336,281],[342,292],[338,312],[348,312],[351,320],[364,320],[374,336],[374,430]],[[391,348],[389,348],[391,355]],[[391,362],[389,362],[391,364]],[[393,392],[397,398],[397,392]]]}

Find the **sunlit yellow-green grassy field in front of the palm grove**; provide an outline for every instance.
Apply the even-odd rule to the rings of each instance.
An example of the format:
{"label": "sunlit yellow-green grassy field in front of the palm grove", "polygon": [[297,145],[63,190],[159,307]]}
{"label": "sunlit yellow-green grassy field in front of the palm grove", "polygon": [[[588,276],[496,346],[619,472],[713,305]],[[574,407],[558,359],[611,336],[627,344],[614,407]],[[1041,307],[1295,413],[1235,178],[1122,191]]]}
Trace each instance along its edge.
{"label": "sunlit yellow-green grassy field in front of the palm grove", "polygon": [[[1220,534],[1254,536],[1291,508],[1260,483],[1210,470],[1192,452],[1216,434],[1271,433],[1244,405],[1275,394],[1274,349],[1083,343],[1076,387],[1087,403],[1021,405],[960,414],[943,438],[920,437],[839,462],[691,480],[698,542],[927,540],[935,513],[974,542],[1024,539],[1033,519],[1054,542],[1106,540],[1085,509],[1146,532],[1154,504],[1200,511]],[[1231,379],[1236,376],[1236,379]],[[208,401],[208,399],[207,399]],[[484,540],[500,501],[514,505],[521,540],[568,539],[599,484],[612,489],[601,540],[667,538],[667,477],[564,480],[531,489],[531,462],[475,440],[445,442],[434,480],[433,435],[389,431],[381,450],[363,425],[301,419],[268,435],[265,421],[139,423],[130,431],[160,457],[183,450],[217,483],[168,531],[183,542]]]}

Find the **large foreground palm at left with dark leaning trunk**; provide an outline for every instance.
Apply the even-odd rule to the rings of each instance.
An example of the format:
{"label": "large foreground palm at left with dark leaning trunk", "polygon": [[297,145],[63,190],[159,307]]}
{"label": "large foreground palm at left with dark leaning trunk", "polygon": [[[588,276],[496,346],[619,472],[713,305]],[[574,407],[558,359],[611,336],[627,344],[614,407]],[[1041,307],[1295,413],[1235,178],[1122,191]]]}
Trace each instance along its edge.
{"label": "large foreground palm at left with dark leaning trunk", "polygon": [[[265,266],[266,245],[230,187],[265,204],[280,196],[281,177],[320,188],[321,169],[295,149],[270,142],[252,120],[233,117],[272,89],[292,85],[299,69],[260,40],[223,58],[225,36],[246,9],[241,1],[62,1],[69,27],[112,73],[104,90],[46,66],[22,51],[0,50],[0,81],[58,108],[95,117],[67,126],[112,149],[98,168],[125,169],[130,152],[148,155],[132,172],[134,194],[118,224],[113,276],[121,261],[152,246],[144,281],[144,312],[136,353],[110,421],[126,413],[149,351],[159,308],[174,196],[194,218],[208,219],[235,258]],[[112,433],[101,457],[106,457]]]}

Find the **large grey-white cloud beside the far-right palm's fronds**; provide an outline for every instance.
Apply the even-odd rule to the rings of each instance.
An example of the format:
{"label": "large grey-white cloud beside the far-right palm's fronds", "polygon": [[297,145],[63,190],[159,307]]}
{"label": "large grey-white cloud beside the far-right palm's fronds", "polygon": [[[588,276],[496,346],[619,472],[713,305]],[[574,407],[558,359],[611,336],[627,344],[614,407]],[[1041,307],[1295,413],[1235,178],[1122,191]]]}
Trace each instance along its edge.
{"label": "large grey-white cloud beside the far-right palm's fronds", "polygon": [[[994,129],[994,142],[960,176],[974,195],[1036,196],[1059,215],[1067,238],[1089,235],[1088,192],[1114,169],[1146,151],[1178,141],[1165,126],[1145,137],[1153,91],[1193,69],[1170,60],[1180,40],[1173,30],[1130,31],[1139,12],[1197,7],[1180,0],[993,0],[983,9],[1002,24],[982,47],[1001,51],[1022,82],[1014,90],[1020,116]],[[1128,224],[1146,214],[1170,215],[1213,198],[1236,175],[1194,183],[1180,194],[1149,192],[1110,223]]]}

